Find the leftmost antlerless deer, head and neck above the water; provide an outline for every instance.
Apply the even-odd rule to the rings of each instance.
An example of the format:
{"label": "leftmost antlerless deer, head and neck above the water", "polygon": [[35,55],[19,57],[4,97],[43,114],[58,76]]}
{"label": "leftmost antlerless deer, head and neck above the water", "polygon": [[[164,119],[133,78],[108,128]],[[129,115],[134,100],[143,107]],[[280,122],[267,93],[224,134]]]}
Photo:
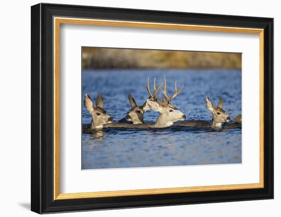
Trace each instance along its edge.
{"label": "leftmost antlerless deer, head and neck above the water", "polygon": [[104,124],[112,123],[113,118],[103,109],[103,96],[101,93],[96,99],[96,107],[88,94],[85,94],[84,105],[92,116],[90,130],[100,130]]}

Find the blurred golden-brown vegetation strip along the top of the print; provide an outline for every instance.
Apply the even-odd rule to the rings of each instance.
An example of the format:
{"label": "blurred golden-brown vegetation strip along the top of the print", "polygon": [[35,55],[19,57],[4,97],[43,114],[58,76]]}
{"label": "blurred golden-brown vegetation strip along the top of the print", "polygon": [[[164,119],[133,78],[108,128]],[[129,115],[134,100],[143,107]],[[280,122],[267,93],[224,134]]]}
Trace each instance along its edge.
{"label": "blurred golden-brown vegetation strip along the top of the print", "polygon": [[107,49],[82,47],[83,68],[235,68],[239,53]]}

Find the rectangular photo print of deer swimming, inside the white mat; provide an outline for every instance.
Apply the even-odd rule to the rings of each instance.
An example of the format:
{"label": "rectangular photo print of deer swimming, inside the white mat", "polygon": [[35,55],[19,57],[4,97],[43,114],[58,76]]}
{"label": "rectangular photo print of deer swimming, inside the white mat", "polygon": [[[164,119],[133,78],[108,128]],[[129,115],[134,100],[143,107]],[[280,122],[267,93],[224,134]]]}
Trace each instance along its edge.
{"label": "rectangular photo print of deer swimming, inside the white mat", "polygon": [[242,163],[242,54],[82,47],[82,170]]}

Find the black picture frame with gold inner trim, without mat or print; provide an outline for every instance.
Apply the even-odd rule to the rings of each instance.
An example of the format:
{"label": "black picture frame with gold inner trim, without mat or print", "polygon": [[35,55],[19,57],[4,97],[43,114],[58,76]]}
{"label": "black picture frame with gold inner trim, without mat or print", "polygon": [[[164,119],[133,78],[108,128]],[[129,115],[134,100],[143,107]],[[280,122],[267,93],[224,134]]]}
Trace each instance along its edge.
{"label": "black picture frame with gold inner trim, without mat or print", "polygon": [[[60,28],[90,25],[259,36],[259,182],[60,191]],[[31,210],[37,213],[273,198],[273,18],[37,4],[31,7]],[[256,144],[258,146],[258,144]],[[218,194],[219,193],[219,194]]]}

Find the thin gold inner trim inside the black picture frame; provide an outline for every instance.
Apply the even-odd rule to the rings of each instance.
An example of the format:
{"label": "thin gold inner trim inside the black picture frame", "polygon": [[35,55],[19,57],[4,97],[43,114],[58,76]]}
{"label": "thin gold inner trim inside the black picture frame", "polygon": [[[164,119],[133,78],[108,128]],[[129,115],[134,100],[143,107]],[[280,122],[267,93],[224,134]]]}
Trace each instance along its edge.
{"label": "thin gold inner trim inside the black picture frame", "polygon": [[[216,185],[199,187],[177,187],[177,188],[156,188],[156,189],[138,189],[138,190],[119,190],[119,191],[100,191],[100,192],[78,192],[73,194],[60,194],[59,191],[59,47],[60,47],[60,25],[97,25],[97,26],[117,26],[133,28],[155,28],[155,29],[173,29],[183,31],[206,31],[206,32],[231,32],[231,33],[251,33],[259,34],[260,37],[260,183],[252,184],[234,184],[234,185]],[[154,194],[173,194],[180,192],[198,192],[213,190],[238,190],[253,189],[264,187],[264,30],[236,27],[218,27],[218,26],[199,26],[199,25],[181,25],[157,22],[135,22],[119,20],[101,20],[101,19],[81,19],[54,17],[54,200],[65,199],[85,199],[102,197],[120,197]]]}

